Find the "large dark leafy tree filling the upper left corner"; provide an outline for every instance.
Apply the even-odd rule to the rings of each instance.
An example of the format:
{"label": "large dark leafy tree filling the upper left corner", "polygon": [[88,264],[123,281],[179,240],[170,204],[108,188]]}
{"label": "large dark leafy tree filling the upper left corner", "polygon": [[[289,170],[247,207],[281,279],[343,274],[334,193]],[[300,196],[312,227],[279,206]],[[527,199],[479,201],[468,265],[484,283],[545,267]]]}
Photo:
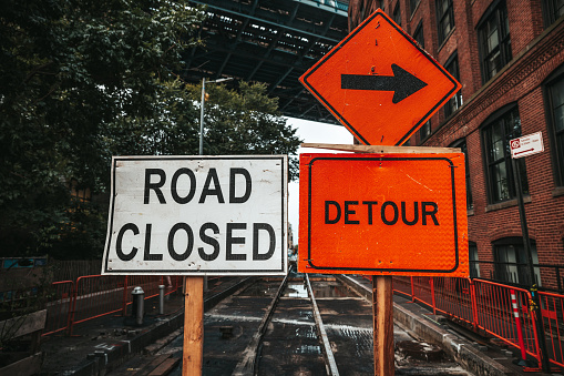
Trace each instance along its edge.
{"label": "large dark leafy tree filling the upper left corner", "polygon": [[69,210],[69,182],[105,189],[102,124],[153,112],[155,78],[181,67],[204,13],[184,0],[0,8],[0,255],[35,254],[88,231],[80,216],[103,216],[85,203]]}

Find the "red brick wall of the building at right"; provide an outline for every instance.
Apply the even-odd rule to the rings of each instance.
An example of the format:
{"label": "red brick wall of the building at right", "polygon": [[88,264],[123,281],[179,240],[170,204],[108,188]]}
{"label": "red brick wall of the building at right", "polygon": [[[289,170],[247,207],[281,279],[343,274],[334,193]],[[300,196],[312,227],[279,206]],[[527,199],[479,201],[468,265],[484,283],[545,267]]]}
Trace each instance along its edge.
{"label": "red brick wall of the building at right", "polygon": [[[541,0],[506,0],[513,60],[485,85],[482,85],[476,24],[492,0],[453,0],[455,29],[439,45],[434,0],[421,0],[414,14],[409,0],[383,0],[391,14],[400,2],[402,28],[413,33],[423,20],[425,50],[441,64],[458,53],[464,105],[444,119],[440,110],[432,119],[428,146],[448,146],[465,138],[473,210],[469,212],[469,236],[475,242],[481,261],[493,261],[492,242],[506,236],[521,236],[516,203],[489,205],[485,167],[480,134],[484,121],[502,106],[516,103],[522,134],[542,131],[545,151],[525,159],[530,197],[525,203],[529,232],[536,242],[541,264],[564,265],[564,195],[553,196],[554,181],[550,133],[546,124],[543,81],[564,63],[564,22],[546,31]],[[419,136],[411,144],[420,144]],[[489,267],[481,265],[489,276]],[[564,272],[564,271],[563,271]],[[555,287],[554,273],[542,270],[544,286]],[[563,273],[564,276],[564,273]]]}

